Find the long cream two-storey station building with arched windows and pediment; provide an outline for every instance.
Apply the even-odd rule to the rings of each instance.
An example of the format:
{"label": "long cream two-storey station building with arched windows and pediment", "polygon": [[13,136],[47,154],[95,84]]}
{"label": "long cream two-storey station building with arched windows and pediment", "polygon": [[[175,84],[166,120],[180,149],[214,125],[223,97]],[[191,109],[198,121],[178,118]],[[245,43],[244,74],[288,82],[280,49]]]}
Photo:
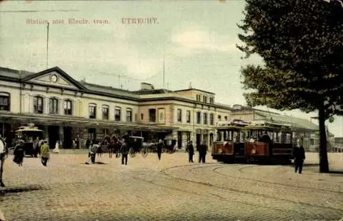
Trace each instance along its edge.
{"label": "long cream two-storey station building with arched windows and pediment", "polygon": [[19,126],[35,124],[51,148],[57,140],[62,148],[71,148],[76,137],[84,146],[86,139],[128,130],[147,142],[169,137],[178,147],[190,140],[212,146],[217,122],[232,119],[290,123],[309,144],[318,131],[318,125],[306,119],[218,104],[210,91],[169,91],[147,83],[141,83],[139,91],[128,91],[75,80],[59,67],[38,73],[0,67],[0,134],[14,137]]}

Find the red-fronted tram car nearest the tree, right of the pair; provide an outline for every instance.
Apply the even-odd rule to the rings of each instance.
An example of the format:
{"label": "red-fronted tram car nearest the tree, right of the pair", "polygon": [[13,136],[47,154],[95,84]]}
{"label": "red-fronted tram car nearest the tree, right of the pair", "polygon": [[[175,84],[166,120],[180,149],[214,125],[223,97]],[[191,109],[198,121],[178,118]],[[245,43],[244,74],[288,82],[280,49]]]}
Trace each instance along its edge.
{"label": "red-fronted tram car nearest the tree, right of the pair", "polygon": [[290,125],[251,121],[245,130],[250,137],[245,146],[247,163],[291,163],[294,131]]}

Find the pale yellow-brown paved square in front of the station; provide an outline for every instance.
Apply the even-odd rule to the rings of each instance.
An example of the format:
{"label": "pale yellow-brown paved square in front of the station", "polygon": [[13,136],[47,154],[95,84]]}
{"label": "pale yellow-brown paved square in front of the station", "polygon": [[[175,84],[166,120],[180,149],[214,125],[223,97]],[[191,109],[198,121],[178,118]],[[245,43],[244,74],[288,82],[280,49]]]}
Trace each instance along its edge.
{"label": "pale yellow-brown paved square in front of the station", "polygon": [[[63,152],[63,151],[62,151]],[[0,211],[6,220],[340,220],[343,174],[319,174],[318,154],[307,153],[303,174],[290,166],[228,165],[207,155],[138,154],[121,159],[51,154],[47,167],[25,158],[5,162]],[[198,159],[198,155],[194,157]],[[329,154],[343,171],[343,154]],[[1,212],[0,212],[1,214]]]}

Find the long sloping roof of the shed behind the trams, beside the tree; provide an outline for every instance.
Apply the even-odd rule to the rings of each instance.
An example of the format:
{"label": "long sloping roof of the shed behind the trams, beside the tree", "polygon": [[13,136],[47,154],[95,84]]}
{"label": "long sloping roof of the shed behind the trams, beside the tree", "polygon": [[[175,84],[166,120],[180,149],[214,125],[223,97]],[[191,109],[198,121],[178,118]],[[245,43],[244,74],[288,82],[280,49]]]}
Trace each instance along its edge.
{"label": "long sloping roof of the shed behind the trams, beside the tree", "polygon": [[304,129],[304,130],[319,130],[319,126],[317,124],[312,123],[307,119],[303,119],[300,117],[292,117],[287,115],[280,115],[275,113],[268,113],[265,111],[255,109],[255,113],[263,117],[264,119],[272,119],[272,121],[280,124],[291,124],[291,126],[295,129]]}

